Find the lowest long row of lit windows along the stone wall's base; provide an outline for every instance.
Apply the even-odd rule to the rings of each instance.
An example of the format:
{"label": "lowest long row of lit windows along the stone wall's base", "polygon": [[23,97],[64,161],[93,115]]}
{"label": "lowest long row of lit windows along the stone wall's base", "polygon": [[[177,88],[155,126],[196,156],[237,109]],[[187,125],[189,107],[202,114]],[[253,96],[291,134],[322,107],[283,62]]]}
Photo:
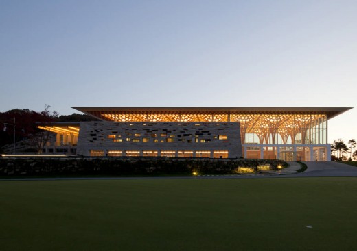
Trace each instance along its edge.
{"label": "lowest long row of lit windows along the stone wall's base", "polygon": [[[160,155],[159,155],[160,153]],[[179,158],[228,158],[228,150],[108,150],[107,156],[111,157],[179,157]],[[91,156],[104,156],[104,150],[91,150]]]}

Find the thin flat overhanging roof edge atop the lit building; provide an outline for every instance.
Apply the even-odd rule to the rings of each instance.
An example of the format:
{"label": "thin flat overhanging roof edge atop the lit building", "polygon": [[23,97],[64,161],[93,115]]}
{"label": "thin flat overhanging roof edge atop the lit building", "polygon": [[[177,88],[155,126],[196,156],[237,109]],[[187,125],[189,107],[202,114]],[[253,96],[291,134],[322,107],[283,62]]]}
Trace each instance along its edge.
{"label": "thin flat overhanging roof edge atop the lit building", "polygon": [[[228,113],[228,114],[326,114],[333,118],[352,107],[71,107],[95,116],[108,113]],[[97,116],[95,116],[97,118]]]}

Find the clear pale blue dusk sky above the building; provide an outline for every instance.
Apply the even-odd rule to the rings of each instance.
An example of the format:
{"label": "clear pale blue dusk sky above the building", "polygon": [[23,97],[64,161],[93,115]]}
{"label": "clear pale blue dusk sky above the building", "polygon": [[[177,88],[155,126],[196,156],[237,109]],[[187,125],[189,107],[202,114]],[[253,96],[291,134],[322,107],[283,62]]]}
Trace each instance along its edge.
{"label": "clear pale blue dusk sky above the building", "polygon": [[[0,111],[355,107],[357,1],[0,0]],[[357,109],[329,142],[357,139]]]}

